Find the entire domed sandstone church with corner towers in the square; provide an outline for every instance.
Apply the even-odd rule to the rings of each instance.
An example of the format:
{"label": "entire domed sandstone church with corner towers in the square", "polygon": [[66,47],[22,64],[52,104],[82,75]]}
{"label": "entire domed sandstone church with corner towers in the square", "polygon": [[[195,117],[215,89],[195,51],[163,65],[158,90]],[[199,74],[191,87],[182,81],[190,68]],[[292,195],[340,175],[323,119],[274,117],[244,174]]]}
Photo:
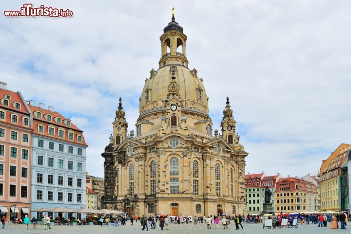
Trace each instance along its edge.
{"label": "entire domed sandstone church with corner towers in the square", "polygon": [[113,135],[101,154],[102,207],[147,216],[244,214],[248,153],[235,132],[229,99],[221,134],[213,132],[202,78],[188,68],[187,36],[174,13],[160,41],[159,69],[145,80],[136,132],[127,134],[119,99]]}

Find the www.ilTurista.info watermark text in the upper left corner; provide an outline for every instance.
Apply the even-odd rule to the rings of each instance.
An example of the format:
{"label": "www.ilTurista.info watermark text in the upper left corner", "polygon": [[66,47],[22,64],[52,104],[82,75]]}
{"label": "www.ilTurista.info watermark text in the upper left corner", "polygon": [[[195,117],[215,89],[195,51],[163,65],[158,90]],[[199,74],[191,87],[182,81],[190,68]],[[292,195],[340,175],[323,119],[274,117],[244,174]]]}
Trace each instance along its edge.
{"label": "www.ilTurista.info watermark text in the upper left corner", "polygon": [[19,11],[4,11],[5,17],[72,17],[73,11],[70,9],[58,9],[52,6],[40,5],[33,7],[32,3],[24,3]]}

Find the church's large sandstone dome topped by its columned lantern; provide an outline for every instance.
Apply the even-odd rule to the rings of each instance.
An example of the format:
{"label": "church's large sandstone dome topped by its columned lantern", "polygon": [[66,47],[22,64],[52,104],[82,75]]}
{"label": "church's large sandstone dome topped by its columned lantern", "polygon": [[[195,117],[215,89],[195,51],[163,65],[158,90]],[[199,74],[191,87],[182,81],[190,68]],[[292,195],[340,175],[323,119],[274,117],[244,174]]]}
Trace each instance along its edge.
{"label": "church's large sandstone dome topped by its columned lantern", "polygon": [[160,129],[189,129],[200,135],[210,135],[207,129],[212,131],[212,122],[207,94],[196,69],[188,68],[186,40],[183,28],[173,16],[160,36],[159,69],[150,71],[140,95],[137,136],[152,135]]}

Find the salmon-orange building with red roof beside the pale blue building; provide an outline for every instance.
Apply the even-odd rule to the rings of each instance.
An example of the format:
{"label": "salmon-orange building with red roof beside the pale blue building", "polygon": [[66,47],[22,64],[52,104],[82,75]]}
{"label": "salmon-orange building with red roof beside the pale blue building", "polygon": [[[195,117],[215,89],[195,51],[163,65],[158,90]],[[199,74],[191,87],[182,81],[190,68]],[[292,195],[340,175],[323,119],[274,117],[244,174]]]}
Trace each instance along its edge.
{"label": "salmon-orange building with red roof beside the pale blue building", "polygon": [[0,215],[29,213],[32,115],[20,92],[0,82]]}

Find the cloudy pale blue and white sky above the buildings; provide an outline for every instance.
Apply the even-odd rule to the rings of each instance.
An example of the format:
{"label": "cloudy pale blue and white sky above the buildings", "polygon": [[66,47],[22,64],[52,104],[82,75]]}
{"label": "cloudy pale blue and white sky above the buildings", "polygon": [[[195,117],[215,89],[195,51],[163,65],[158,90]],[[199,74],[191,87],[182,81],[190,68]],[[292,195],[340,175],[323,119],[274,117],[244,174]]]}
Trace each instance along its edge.
{"label": "cloudy pale blue and white sky above the buildings", "polygon": [[90,175],[103,177],[101,153],[119,97],[135,130],[173,6],[214,129],[230,98],[249,153],[246,173],[315,174],[341,143],[351,143],[351,1],[32,0],[74,16],[3,16],[26,2],[1,3],[0,80],[84,131]]}

